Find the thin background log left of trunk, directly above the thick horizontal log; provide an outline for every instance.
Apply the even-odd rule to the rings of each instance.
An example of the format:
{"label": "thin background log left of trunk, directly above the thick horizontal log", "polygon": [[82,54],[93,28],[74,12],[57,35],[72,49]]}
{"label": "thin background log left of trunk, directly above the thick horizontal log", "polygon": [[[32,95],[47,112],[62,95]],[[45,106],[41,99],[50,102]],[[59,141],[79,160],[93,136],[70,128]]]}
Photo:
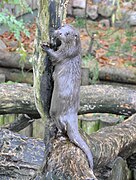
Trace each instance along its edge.
{"label": "thin background log left of trunk, directly above the thick horizontal log", "polygon": [[33,84],[33,74],[31,72],[0,67],[0,74],[5,76],[6,81]]}

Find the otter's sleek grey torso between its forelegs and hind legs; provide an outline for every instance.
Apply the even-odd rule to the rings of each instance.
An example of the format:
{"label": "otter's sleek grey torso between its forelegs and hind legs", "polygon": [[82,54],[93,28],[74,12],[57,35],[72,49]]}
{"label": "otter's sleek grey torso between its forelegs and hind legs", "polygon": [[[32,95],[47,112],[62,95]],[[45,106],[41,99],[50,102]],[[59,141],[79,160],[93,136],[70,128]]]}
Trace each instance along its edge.
{"label": "otter's sleek grey torso between its forelegs and hind legs", "polygon": [[[54,89],[50,114],[54,117],[66,114],[69,109],[78,111],[80,93],[80,72],[75,67],[62,66],[54,71]],[[79,69],[79,67],[78,67]]]}

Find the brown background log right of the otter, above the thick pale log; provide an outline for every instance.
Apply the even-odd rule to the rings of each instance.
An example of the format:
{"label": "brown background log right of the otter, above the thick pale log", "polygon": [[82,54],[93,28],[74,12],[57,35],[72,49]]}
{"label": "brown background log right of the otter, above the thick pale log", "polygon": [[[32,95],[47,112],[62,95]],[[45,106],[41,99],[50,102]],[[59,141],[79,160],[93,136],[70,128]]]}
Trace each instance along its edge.
{"label": "brown background log right of the otter, above the thick pale log", "polygon": [[[93,71],[90,70],[90,78],[92,76]],[[98,79],[102,81],[136,84],[136,68],[99,67]]]}

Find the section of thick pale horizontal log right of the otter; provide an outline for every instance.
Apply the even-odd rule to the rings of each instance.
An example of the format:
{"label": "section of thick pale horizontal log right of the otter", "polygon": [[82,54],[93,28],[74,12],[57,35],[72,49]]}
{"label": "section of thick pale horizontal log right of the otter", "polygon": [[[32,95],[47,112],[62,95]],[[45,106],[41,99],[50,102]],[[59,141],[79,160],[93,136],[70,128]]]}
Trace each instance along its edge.
{"label": "section of thick pale horizontal log right of the otter", "polygon": [[112,113],[129,116],[136,112],[136,88],[112,85],[82,86],[79,114]]}

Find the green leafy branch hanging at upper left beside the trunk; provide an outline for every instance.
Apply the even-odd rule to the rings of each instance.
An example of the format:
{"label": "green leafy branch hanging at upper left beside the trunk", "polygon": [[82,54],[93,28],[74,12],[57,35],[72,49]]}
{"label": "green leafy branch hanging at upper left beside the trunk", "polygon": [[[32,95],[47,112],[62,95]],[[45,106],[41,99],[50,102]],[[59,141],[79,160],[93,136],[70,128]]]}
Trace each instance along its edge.
{"label": "green leafy branch hanging at upper left beside the trunk", "polygon": [[28,6],[25,0],[3,0],[0,4],[0,7],[3,8],[3,11],[0,12],[0,24],[5,25],[18,40],[20,46],[17,49],[17,52],[21,55],[20,64],[23,68],[24,62],[26,61],[27,52],[25,51],[24,46],[20,41],[21,32],[23,32],[27,37],[30,36],[30,33],[25,27],[23,19],[17,20],[16,17],[8,11],[8,9],[5,9],[4,4],[15,5],[17,11],[19,12],[22,11],[32,13],[32,9]]}

